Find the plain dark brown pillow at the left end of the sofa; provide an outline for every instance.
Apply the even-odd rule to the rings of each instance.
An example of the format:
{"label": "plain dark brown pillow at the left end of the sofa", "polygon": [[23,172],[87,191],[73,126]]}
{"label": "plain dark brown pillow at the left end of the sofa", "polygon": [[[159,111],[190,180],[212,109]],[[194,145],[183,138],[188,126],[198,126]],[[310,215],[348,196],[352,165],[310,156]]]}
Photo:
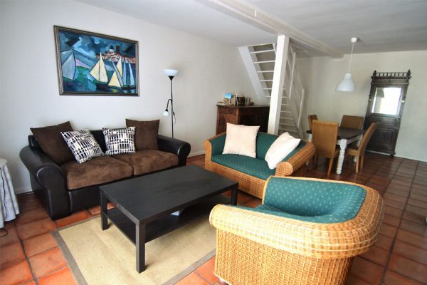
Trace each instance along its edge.
{"label": "plain dark brown pillow at the left end of the sofa", "polygon": [[53,161],[61,165],[64,162],[73,160],[73,153],[71,153],[67,143],[64,141],[62,135],[60,135],[60,132],[73,130],[70,122],[43,128],[30,128],[30,130],[36,137],[43,152],[48,157],[51,157]]}

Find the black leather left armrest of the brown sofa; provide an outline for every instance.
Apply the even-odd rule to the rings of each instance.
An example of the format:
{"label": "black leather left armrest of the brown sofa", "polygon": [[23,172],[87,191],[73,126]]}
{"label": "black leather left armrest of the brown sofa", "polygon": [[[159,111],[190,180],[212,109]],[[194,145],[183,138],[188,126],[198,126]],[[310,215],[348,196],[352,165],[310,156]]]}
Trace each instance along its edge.
{"label": "black leather left armrest of the brown sofa", "polygon": [[38,182],[46,190],[43,205],[52,219],[64,217],[70,213],[70,197],[68,196],[67,180],[63,170],[51,160],[42,150],[33,147],[23,147],[19,157]]}

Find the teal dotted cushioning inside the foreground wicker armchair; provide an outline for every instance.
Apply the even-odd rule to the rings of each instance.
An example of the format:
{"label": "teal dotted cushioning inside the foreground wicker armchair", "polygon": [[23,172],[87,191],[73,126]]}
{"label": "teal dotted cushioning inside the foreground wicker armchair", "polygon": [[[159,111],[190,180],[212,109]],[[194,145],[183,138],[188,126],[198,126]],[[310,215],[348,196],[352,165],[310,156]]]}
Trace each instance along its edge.
{"label": "teal dotted cushioning inside the foreground wicker armchair", "polygon": [[306,222],[339,223],[357,215],[365,195],[356,185],[273,177],[264,204],[253,210]]}

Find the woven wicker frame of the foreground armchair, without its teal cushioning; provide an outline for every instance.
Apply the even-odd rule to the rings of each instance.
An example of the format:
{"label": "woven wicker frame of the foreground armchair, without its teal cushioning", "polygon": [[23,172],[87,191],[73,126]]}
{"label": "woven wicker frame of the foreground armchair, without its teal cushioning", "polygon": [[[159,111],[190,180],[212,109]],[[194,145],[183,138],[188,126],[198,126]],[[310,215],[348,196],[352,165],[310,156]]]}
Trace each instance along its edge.
{"label": "woven wicker frame of the foreground armchair, without its teal cushioning", "polygon": [[217,205],[210,216],[217,234],[216,276],[233,285],[344,284],[352,259],[376,241],[384,214],[379,193],[357,186],[366,191],[359,212],[333,224]]}

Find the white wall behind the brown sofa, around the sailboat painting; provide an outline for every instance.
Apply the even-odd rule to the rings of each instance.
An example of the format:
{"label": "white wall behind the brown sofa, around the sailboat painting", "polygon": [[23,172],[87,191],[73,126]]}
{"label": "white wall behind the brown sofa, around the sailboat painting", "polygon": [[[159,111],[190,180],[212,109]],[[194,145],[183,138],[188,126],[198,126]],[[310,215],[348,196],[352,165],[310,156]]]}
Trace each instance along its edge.
{"label": "white wall behind the brown sofa, around the sailboat painting", "polygon": [[[16,192],[30,190],[19,160],[31,127],[70,120],[74,129],[120,127],[125,118],[160,118],[159,133],[171,134],[162,116],[170,96],[163,68],[174,78],[176,138],[193,154],[215,134],[216,101],[241,92],[255,99],[237,48],[73,1],[0,1],[0,155],[9,161]],[[53,25],[139,41],[139,97],[60,96]]]}

